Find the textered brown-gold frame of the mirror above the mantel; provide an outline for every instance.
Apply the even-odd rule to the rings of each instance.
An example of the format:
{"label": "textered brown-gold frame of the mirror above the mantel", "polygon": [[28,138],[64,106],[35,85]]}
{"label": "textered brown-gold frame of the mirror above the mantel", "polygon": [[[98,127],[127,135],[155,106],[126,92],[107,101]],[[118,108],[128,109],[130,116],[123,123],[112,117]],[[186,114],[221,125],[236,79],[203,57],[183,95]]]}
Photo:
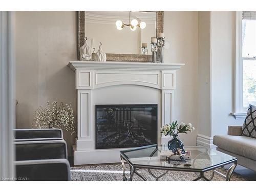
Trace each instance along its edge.
{"label": "textered brown-gold frame of the mirror above the mantel", "polygon": [[[163,33],[163,11],[152,11],[157,13],[157,31],[156,33]],[[77,11],[77,58],[79,60],[79,48],[84,44],[85,28],[86,28],[86,12]],[[157,35],[156,34],[156,35]],[[138,62],[152,62],[152,55],[142,54],[117,54],[106,53],[107,61],[138,61]]]}

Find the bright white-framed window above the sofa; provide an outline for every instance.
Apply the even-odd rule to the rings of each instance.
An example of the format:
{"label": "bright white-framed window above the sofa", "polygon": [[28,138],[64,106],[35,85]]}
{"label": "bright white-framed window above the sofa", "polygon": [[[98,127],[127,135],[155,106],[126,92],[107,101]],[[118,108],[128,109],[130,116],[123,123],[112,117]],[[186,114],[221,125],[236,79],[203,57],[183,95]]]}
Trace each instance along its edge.
{"label": "bright white-framed window above the sofa", "polygon": [[256,105],[256,12],[237,12],[236,119],[243,119],[249,104]]}

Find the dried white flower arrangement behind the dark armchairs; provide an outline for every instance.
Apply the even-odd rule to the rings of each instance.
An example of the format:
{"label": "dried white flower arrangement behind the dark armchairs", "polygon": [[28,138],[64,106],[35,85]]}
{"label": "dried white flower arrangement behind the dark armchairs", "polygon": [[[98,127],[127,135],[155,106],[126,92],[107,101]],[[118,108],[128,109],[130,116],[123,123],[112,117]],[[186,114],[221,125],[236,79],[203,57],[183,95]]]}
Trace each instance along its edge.
{"label": "dried white flower arrangement behind the dark armchairs", "polygon": [[40,106],[35,112],[35,118],[32,123],[33,127],[39,129],[46,128],[59,128],[62,130],[70,131],[70,134],[75,133],[73,109],[71,105],[63,104],[60,102],[58,105],[57,101],[53,101],[52,105],[47,102],[46,108]]}

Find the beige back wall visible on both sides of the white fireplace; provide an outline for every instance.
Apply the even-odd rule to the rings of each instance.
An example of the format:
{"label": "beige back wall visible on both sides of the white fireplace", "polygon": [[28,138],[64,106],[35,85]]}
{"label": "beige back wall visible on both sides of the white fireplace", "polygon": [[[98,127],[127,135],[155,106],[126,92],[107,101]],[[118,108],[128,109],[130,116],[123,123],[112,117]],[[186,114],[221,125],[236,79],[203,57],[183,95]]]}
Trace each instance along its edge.
{"label": "beige back wall visible on both sides of the white fireplace", "polygon": [[[31,127],[35,110],[48,100],[71,103],[75,112],[75,74],[67,64],[76,60],[76,13],[16,12],[15,33],[17,127]],[[175,119],[196,127],[194,133],[180,136],[184,144],[195,145],[198,12],[164,12],[164,33],[170,42],[165,62],[186,64],[177,73]],[[65,132],[69,155],[74,138]]]}

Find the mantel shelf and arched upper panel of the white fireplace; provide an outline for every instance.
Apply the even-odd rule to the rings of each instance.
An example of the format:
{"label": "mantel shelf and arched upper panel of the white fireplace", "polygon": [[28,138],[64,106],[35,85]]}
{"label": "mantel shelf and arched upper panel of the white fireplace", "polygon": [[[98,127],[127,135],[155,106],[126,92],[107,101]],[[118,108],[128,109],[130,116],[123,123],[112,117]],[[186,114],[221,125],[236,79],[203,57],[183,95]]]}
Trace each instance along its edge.
{"label": "mantel shelf and arched upper panel of the white fireplace", "polygon": [[[70,61],[68,66],[75,71],[76,89],[78,90],[98,89],[123,84],[175,90],[176,71],[184,64],[164,63],[160,65],[146,62]],[[103,77],[104,75],[105,77]],[[122,76],[120,77],[120,75]],[[167,75],[172,75],[172,83],[169,82],[170,79],[166,77]]]}

